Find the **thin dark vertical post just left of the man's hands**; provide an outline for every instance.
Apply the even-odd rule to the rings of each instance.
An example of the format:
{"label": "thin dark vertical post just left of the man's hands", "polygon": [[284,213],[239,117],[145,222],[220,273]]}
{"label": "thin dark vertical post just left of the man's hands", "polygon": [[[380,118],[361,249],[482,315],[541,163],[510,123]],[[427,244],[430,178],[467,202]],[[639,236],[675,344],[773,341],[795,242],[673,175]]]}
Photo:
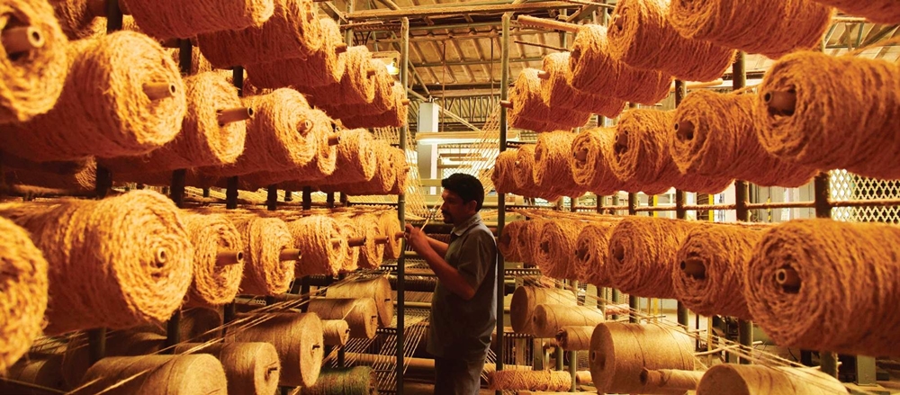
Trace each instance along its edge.
{"label": "thin dark vertical post just left of the man's hands", "polygon": [[[401,65],[400,82],[403,85],[403,91],[409,87],[410,82],[410,18],[402,18],[401,20]],[[404,122],[406,123],[406,122]],[[400,129],[400,148],[406,151],[406,133],[410,126],[404,124]],[[397,195],[397,217],[401,226],[406,223],[406,194],[401,191]],[[406,250],[406,239],[401,240],[401,251]],[[406,317],[406,256],[401,254],[397,259],[397,394],[403,395],[403,357]]]}

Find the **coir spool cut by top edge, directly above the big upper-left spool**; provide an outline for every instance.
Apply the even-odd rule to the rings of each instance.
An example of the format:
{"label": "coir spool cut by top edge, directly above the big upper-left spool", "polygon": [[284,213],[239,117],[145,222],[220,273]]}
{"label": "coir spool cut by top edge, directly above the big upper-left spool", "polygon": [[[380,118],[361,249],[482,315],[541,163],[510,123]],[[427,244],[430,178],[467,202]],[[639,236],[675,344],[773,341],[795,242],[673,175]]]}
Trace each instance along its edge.
{"label": "coir spool cut by top edge, directly above the big upper-left spool", "polygon": [[272,0],[125,0],[141,29],[158,39],[187,39],[213,31],[258,27],[275,12]]}

